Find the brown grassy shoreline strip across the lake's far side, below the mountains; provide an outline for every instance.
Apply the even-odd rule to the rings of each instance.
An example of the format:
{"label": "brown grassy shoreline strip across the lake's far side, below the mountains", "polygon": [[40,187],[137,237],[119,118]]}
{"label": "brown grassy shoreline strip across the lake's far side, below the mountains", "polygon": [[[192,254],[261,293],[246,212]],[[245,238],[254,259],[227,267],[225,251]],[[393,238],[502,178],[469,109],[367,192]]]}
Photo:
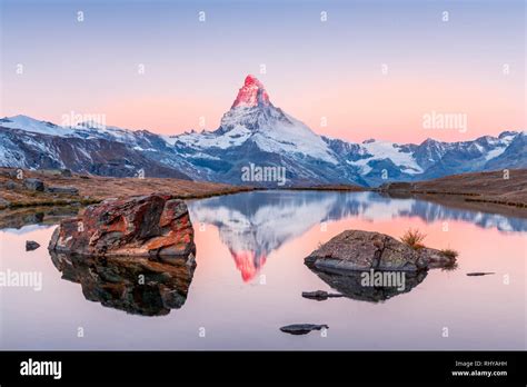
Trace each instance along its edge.
{"label": "brown grassy shoreline strip across the lake's far side, below the mountains", "polygon": [[[319,185],[311,187],[251,187],[226,183],[189,181],[171,178],[113,178],[70,173],[59,170],[23,170],[24,178],[41,180],[47,187],[72,187],[77,195],[50,194],[23,188],[23,180],[13,177],[14,168],[0,168],[0,194],[7,200],[0,201],[1,210],[17,210],[37,207],[71,207],[98,204],[108,198],[168,192],[182,200],[206,199],[249,191],[328,191],[328,192],[378,192],[390,198],[416,198],[435,201],[450,207],[483,210],[527,217],[527,169],[511,170],[510,182],[504,182],[501,171],[454,175],[434,180],[416,182],[390,182],[371,188],[356,185]],[[514,178],[514,180],[513,180]],[[8,189],[7,183],[17,188]],[[485,190],[486,194],[481,194]],[[6,205],[8,204],[8,205]],[[490,208],[489,208],[490,207]]]}

